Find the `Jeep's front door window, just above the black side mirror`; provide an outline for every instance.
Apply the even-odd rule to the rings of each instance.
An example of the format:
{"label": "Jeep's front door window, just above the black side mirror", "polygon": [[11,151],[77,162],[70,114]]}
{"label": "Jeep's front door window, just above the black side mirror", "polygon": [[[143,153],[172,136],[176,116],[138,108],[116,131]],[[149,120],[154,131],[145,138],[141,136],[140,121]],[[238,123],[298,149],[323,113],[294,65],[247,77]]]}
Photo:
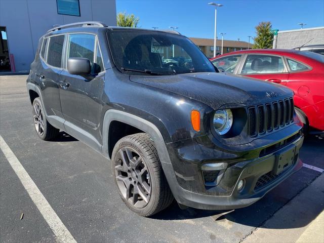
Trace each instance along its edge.
{"label": "Jeep's front door window, just above the black side mirror", "polygon": [[88,58],[93,64],[96,37],[93,34],[70,34],[67,58]]}

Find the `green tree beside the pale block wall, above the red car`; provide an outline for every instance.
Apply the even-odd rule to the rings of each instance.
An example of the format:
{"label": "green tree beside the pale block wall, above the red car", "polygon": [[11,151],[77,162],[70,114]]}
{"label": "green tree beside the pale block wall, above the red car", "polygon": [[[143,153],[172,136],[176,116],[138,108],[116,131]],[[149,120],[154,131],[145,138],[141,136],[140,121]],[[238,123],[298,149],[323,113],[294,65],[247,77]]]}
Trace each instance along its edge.
{"label": "green tree beside the pale block wall, above the red car", "polygon": [[257,37],[254,38],[253,49],[272,48],[273,34],[271,33],[271,28],[270,22],[260,22],[255,27]]}

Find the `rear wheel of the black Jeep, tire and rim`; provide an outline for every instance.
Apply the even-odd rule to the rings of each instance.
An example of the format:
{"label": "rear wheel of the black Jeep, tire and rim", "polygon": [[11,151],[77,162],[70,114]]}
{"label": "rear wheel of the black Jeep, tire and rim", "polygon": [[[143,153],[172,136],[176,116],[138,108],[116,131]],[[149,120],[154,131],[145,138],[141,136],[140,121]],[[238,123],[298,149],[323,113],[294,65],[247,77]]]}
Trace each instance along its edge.
{"label": "rear wheel of the black Jeep, tire and rim", "polygon": [[44,107],[39,97],[35,98],[32,103],[32,114],[36,134],[42,140],[52,140],[57,137],[60,130],[54,128],[46,119]]}

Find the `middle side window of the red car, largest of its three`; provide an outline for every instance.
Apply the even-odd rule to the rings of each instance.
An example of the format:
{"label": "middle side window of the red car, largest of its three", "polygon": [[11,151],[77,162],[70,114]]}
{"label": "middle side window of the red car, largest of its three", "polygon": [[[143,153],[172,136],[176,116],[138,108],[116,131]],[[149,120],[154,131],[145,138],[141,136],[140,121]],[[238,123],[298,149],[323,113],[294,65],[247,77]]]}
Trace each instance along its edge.
{"label": "middle side window of the red car, largest of its three", "polygon": [[241,74],[285,72],[281,57],[271,55],[248,55]]}

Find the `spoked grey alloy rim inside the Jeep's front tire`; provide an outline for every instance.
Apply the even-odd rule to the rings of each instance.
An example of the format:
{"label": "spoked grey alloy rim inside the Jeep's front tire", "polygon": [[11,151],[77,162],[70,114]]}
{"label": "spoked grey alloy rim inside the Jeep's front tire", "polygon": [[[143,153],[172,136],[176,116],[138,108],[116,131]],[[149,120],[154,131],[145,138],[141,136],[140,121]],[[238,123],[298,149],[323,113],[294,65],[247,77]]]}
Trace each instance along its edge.
{"label": "spoked grey alloy rim inside the Jeep's front tire", "polygon": [[114,161],[119,191],[134,208],[144,208],[151,197],[150,176],[144,159],[131,147],[122,147]]}

